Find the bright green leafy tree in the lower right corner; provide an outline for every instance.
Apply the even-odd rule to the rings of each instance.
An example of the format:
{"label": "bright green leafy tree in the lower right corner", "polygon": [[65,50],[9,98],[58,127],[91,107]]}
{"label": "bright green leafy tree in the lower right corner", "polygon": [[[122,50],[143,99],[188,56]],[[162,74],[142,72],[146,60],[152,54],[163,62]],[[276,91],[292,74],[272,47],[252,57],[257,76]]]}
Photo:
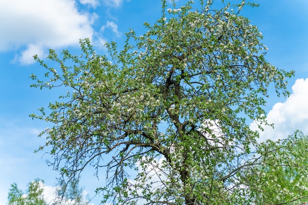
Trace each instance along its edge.
{"label": "bright green leafy tree in the lower right corner", "polygon": [[[308,201],[308,137],[299,132],[279,142],[261,145],[263,166],[254,188],[256,204],[299,205]],[[268,149],[271,150],[268,150]]]}

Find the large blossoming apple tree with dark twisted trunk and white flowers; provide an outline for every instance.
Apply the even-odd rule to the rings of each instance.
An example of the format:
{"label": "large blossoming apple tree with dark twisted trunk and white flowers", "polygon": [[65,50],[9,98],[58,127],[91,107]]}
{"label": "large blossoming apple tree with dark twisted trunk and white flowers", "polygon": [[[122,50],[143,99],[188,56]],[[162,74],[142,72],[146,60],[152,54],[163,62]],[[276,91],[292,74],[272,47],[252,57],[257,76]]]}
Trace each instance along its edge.
{"label": "large blossoming apple tree with dark twisted trunk and white flowers", "polygon": [[112,42],[108,56],[99,55],[88,39],[81,55],[50,50],[60,71],[35,56],[48,78],[32,75],[32,86],[67,89],[50,112],[31,115],[54,124],[40,133],[47,142],[39,150],[51,147],[49,164],[63,181],[78,180],[86,166],[96,175],[106,167],[107,182],[96,190],[102,204],[259,200],[263,189],[253,186],[264,156],[283,146],[258,145],[246,119],[267,124],[268,87],[288,96],[293,72],[266,61],[262,34],[240,15],[245,1],[223,5],[200,0],[171,9],[162,0],[161,18],[145,23],[142,36],[128,32],[121,51]]}

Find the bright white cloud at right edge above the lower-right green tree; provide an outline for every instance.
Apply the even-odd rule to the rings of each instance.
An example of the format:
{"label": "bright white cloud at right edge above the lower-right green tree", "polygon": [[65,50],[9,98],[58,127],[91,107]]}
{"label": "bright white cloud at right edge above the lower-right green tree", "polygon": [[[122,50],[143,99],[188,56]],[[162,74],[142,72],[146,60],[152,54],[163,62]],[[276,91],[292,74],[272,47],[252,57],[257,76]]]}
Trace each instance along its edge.
{"label": "bright white cloud at right edge above the lower-right green tree", "polygon": [[[260,131],[259,141],[283,139],[297,129],[308,133],[308,78],[295,81],[290,97],[273,106],[267,121],[274,123],[275,128],[265,126],[264,131]],[[250,128],[257,130],[256,123],[251,123]]]}

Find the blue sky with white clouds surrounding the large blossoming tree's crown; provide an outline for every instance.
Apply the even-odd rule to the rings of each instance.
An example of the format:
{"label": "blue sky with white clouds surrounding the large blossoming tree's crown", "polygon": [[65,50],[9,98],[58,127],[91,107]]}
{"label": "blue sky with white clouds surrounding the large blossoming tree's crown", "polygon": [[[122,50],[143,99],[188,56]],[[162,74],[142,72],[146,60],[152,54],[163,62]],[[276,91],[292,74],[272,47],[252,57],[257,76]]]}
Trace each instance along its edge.
{"label": "blue sky with white clouds surrounding the large blossoming tree's crown", "polygon": [[[177,2],[181,6],[185,0]],[[246,7],[242,14],[263,33],[267,60],[296,71],[289,80],[288,99],[270,91],[265,109],[276,128],[265,128],[260,140],[285,137],[295,129],[308,133],[308,1],[254,2],[260,6]],[[0,0],[0,205],[5,205],[12,182],[25,189],[29,181],[40,178],[51,187],[58,176],[45,164],[48,156],[33,154],[44,144],[37,134],[47,125],[28,116],[57,100],[61,90],[30,88],[29,76],[44,72],[31,56],[44,58],[49,48],[78,55],[78,40],[86,37],[104,54],[104,42],[122,43],[129,28],[142,35],[142,24],[154,23],[160,11],[160,0]],[[81,185],[93,196],[104,179],[97,181],[91,171],[83,175]]]}

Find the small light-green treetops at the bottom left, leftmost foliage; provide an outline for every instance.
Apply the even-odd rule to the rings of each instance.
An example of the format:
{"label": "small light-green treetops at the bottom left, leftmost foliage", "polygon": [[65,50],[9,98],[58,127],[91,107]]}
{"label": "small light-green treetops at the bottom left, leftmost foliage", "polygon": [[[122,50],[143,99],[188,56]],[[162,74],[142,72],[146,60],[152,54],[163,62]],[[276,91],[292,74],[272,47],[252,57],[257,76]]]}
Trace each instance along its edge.
{"label": "small light-green treetops at the bottom left, leftmost foliage", "polygon": [[8,205],[47,205],[44,201],[42,184],[42,180],[35,179],[28,184],[25,192],[18,189],[16,183],[11,184]]}

